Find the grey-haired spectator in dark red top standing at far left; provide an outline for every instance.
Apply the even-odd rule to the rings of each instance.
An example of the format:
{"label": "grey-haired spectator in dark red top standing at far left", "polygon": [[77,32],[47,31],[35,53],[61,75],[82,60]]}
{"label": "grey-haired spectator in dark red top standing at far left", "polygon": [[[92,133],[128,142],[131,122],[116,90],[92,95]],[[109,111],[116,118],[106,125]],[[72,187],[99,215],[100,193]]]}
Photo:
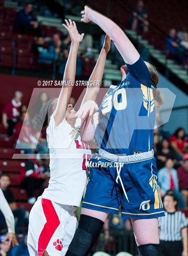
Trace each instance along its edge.
{"label": "grey-haired spectator in dark red top standing at far left", "polygon": [[7,134],[11,136],[13,134],[13,128],[17,123],[17,119],[20,115],[21,98],[23,94],[21,91],[16,91],[14,98],[5,105],[3,108],[3,125],[7,129]]}

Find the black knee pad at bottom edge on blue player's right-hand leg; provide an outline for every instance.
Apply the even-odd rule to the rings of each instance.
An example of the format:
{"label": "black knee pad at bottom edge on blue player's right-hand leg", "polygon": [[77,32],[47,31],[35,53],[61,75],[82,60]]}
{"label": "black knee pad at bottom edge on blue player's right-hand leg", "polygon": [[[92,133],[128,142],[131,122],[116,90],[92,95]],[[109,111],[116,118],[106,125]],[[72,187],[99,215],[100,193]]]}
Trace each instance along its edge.
{"label": "black knee pad at bottom edge on blue player's right-hand leg", "polygon": [[149,243],[138,246],[139,256],[162,256],[159,244]]}

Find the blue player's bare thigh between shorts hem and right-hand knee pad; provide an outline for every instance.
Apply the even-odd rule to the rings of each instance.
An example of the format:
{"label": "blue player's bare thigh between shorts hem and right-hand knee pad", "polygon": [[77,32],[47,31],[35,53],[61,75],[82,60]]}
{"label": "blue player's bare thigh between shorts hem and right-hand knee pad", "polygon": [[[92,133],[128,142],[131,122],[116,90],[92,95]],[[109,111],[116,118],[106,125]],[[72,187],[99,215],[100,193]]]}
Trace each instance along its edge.
{"label": "blue player's bare thigh between shorts hem and right-hand knee pad", "polygon": [[158,244],[158,219],[131,219],[137,246],[143,244]]}

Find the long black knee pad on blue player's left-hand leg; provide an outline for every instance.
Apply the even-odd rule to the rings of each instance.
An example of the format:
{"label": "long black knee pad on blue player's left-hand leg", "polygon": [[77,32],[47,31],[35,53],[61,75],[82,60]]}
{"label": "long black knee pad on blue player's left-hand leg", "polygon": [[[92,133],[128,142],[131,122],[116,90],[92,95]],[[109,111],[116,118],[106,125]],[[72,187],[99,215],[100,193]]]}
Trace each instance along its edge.
{"label": "long black knee pad on blue player's left-hand leg", "polygon": [[104,222],[81,214],[78,228],[65,256],[87,256],[97,241]]}

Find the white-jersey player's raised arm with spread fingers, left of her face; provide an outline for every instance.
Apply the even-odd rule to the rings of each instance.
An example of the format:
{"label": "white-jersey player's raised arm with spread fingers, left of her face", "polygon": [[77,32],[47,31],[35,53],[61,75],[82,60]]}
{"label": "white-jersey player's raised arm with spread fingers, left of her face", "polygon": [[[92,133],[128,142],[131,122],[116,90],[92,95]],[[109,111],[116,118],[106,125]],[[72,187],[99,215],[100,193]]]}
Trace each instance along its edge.
{"label": "white-jersey player's raised arm with spread fingers, left of her face", "polygon": [[[71,37],[71,47],[70,47],[68,60],[64,70],[64,77],[63,77],[64,85],[62,86],[62,89],[60,91],[60,95],[57,100],[56,109],[54,111],[54,119],[56,122],[56,126],[58,126],[65,118],[68,101],[71,97],[73,85],[75,83],[77,51],[78,51],[79,44],[82,41],[84,36],[84,34],[80,35],[78,33],[75,22],[72,22],[70,19],[68,19],[68,21],[65,19],[65,22],[66,22],[66,25],[63,24],[63,26],[66,28],[66,30],[68,31]],[[70,82],[70,85],[68,85],[68,81]]]}

